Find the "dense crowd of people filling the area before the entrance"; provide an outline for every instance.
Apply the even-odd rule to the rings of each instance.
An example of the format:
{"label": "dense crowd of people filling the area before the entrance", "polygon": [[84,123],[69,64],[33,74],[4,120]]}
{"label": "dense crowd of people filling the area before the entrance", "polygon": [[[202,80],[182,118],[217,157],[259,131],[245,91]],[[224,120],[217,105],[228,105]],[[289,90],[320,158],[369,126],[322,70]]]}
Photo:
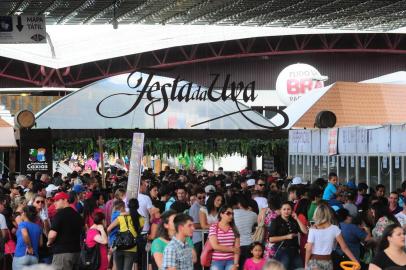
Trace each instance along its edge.
{"label": "dense crowd of people filling the area before the entrance", "polygon": [[406,269],[406,182],[388,192],[335,173],[167,167],[144,171],[128,198],[125,170],[105,177],[3,175],[2,269]]}

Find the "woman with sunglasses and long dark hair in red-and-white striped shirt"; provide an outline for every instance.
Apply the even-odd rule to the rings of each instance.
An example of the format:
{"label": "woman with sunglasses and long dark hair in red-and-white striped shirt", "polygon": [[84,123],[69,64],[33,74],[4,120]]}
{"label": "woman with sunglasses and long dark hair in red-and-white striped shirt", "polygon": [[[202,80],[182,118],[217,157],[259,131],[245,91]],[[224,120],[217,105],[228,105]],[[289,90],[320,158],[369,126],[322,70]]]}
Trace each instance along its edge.
{"label": "woman with sunglasses and long dark hair in red-and-white striped shirt", "polygon": [[218,222],[210,226],[209,241],[213,247],[211,270],[237,270],[240,259],[240,233],[234,224],[233,209],[223,206]]}

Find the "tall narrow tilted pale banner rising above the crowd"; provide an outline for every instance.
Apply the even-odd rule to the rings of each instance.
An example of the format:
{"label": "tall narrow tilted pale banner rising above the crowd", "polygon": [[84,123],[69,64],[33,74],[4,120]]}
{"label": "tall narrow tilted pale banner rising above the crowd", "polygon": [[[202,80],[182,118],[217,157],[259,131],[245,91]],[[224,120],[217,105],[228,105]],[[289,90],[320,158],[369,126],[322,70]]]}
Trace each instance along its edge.
{"label": "tall narrow tilted pale banner rising above the crowd", "polygon": [[131,147],[130,168],[127,183],[127,200],[138,197],[144,155],[144,133],[134,133]]}

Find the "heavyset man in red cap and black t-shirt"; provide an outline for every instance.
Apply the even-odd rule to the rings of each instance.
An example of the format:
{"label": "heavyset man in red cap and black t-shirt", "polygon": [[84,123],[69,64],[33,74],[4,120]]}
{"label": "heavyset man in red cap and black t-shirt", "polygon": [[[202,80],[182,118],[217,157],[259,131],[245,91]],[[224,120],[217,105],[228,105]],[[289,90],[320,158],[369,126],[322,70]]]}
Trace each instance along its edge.
{"label": "heavyset man in red cap and black t-shirt", "polygon": [[56,270],[79,269],[80,235],[84,222],[80,214],[70,207],[68,199],[65,192],[54,196],[58,211],[52,220],[47,246],[52,248],[52,265]]}

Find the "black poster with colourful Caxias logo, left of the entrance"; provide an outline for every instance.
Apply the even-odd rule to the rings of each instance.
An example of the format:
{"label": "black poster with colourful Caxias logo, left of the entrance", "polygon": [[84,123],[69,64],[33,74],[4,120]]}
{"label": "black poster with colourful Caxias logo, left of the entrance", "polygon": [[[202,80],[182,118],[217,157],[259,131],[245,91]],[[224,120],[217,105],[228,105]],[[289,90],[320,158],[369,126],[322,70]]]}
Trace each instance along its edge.
{"label": "black poster with colourful Caxias logo, left of the entrance", "polygon": [[21,130],[20,171],[22,174],[52,175],[52,134],[46,130]]}

